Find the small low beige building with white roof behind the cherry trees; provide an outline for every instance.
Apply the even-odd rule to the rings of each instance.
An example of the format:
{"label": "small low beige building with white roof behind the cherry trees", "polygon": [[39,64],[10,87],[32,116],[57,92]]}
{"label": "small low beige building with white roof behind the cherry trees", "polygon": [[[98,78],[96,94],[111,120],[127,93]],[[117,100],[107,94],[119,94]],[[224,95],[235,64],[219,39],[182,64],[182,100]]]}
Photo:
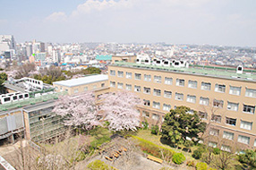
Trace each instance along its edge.
{"label": "small low beige building with white roof behind the cherry trees", "polygon": [[55,81],[53,85],[57,92],[66,91],[69,95],[87,90],[106,90],[108,89],[108,76],[104,74],[88,75],[67,81]]}

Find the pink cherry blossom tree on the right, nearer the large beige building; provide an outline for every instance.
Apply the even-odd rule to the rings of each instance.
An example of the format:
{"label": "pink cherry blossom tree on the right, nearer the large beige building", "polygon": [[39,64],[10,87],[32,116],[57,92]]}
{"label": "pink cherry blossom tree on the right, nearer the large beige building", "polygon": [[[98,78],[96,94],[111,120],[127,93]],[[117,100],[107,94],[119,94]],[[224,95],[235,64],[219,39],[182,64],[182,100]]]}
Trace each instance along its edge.
{"label": "pink cherry blossom tree on the right, nearer the large beige building", "polygon": [[102,95],[103,100],[100,110],[109,122],[109,130],[115,132],[136,131],[140,124],[140,113],[136,109],[141,104],[141,99],[129,91],[117,91]]}

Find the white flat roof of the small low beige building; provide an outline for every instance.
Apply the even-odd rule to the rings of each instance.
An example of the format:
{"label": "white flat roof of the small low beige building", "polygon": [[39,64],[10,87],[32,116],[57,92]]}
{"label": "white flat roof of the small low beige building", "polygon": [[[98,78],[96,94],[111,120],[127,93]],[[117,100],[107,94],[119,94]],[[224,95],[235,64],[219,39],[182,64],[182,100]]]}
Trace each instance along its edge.
{"label": "white flat roof of the small low beige building", "polygon": [[84,84],[90,84],[98,81],[107,81],[107,80],[108,80],[107,75],[98,74],[98,75],[89,75],[86,77],[81,77],[78,79],[72,79],[67,81],[55,81],[53,82],[53,84],[65,86],[65,87],[75,87],[75,86],[81,86]]}

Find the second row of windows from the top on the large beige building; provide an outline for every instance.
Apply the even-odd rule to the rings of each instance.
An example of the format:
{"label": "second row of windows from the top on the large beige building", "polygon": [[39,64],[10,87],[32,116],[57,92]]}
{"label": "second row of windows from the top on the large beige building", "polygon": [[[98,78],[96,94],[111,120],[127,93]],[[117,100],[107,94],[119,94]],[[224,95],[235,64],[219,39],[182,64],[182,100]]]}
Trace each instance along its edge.
{"label": "second row of windows from the top on the large beige building", "polygon": [[[115,81],[110,81],[110,86],[115,87]],[[124,89],[124,83],[117,82],[118,89]],[[132,84],[126,84],[125,89],[132,90]],[[134,85],[134,91],[141,92],[141,86]],[[151,89],[147,87],[143,87],[143,93],[151,94]],[[161,96],[161,89],[153,89],[153,95],[160,97]],[[164,98],[172,98],[172,91],[164,90]],[[183,101],[183,93],[175,93],[175,99]],[[196,103],[196,96],[187,95],[186,101],[189,103]],[[199,101],[200,105],[209,106],[209,98],[200,98]],[[223,108],[224,101],[223,100],[213,100],[213,106]],[[227,101],[227,110],[231,111],[238,111],[239,103],[229,102]],[[254,114],[255,106],[249,106],[243,104],[243,112],[248,114]]]}

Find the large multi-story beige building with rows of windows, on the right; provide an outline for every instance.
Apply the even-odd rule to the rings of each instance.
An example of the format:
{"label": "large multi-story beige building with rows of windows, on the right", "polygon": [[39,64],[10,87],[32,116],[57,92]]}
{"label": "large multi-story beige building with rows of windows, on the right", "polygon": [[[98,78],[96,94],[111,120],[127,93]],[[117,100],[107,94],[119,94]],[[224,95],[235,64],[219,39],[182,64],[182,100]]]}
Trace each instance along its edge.
{"label": "large multi-story beige building with rows of windows, on the right", "polygon": [[144,101],[141,122],[160,124],[170,109],[188,106],[209,123],[209,146],[256,148],[255,72],[115,62],[108,75],[110,91],[131,90]]}

